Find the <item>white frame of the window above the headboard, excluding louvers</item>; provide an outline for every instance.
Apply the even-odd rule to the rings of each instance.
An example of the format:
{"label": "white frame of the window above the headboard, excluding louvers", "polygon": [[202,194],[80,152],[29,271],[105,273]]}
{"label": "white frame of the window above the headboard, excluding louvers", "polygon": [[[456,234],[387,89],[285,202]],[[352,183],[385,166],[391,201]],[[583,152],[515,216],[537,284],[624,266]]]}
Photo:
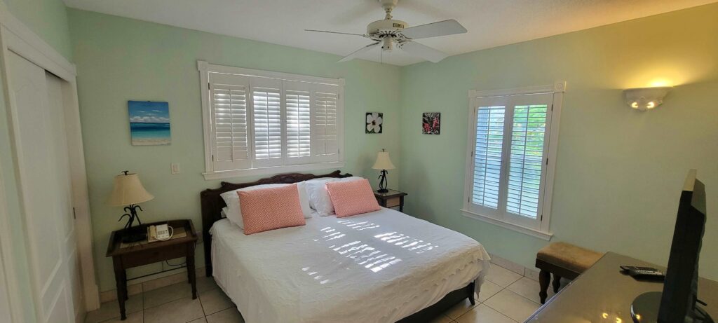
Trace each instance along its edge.
{"label": "white frame of the window above the headboard, excluding louvers", "polygon": [[[290,74],[285,72],[271,72],[266,70],[253,70],[243,67],[231,67],[224,65],[213,65],[208,62],[197,60],[197,70],[200,72],[200,93],[202,100],[202,132],[204,133],[205,143],[205,172],[202,175],[205,180],[214,179],[227,179],[232,177],[243,177],[253,175],[264,175],[264,174],[279,174],[284,172],[307,172],[319,169],[340,169],[345,167],[345,154],[344,154],[344,85],[345,80],[343,78],[321,78],[317,76],[309,75],[298,75]],[[317,85],[332,85],[338,87],[337,92],[337,140],[338,140],[338,158],[337,161],[332,162],[309,162],[306,164],[282,164],[280,166],[271,167],[257,167],[249,169],[234,169],[234,170],[215,170],[213,162],[213,115],[212,107],[210,104],[210,72],[224,73],[224,74],[235,74],[244,75],[248,77],[259,77],[259,78],[274,78],[279,80],[302,82],[302,83],[314,83]],[[248,89],[248,92],[250,90]],[[281,91],[283,100],[281,100],[282,115],[286,113],[284,111],[284,90]],[[247,98],[249,100],[249,98]],[[247,106],[249,110],[249,106]],[[249,116],[248,111],[248,118]],[[286,124],[282,123],[282,132],[284,133]],[[253,131],[253,129],[248,129]],[[248,137],[248,144],[253,136]],[[313,140],[313,139],[312,139]],[[282,138],[282,153],[286,154],[286,136]],[[253,146],[253,145],[251,145]],[[251,151],[253,154],[253,149]],[[282,158],[286,159],[286,156]]]}

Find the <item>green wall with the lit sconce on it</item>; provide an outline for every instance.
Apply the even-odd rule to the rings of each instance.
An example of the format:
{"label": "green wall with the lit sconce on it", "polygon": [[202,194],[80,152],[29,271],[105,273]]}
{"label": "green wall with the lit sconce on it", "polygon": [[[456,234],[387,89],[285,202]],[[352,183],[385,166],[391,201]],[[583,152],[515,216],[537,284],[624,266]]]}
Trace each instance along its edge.
{"label": "green wall with the lit sconce on it", "polygon": [[[554,241],[665,264],[688,169],[706,184],[701,276],[718,279],[718,4],[419,63],[401,71],[405,210],[533,268],[546,241],[462,216],[467,91],[566,80],[551,210]],[[665,79],[662,106],[633,111],[622,89]],[[422,135],[422,112],[442,134]]]}

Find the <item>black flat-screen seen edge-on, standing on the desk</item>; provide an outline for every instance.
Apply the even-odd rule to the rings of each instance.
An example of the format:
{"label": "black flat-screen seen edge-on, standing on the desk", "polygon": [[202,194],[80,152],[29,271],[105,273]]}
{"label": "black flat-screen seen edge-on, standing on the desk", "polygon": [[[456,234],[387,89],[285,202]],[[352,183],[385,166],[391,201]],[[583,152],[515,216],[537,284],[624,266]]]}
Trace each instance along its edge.
{"label": "black flat-screen seen edge-on, standing on the desk", "polygon": [[713,322],[697,301],[698,258],[705,226],[706,190],[691,169],[681,192],[663,292],[636,297],[631,306],[635,322]]}

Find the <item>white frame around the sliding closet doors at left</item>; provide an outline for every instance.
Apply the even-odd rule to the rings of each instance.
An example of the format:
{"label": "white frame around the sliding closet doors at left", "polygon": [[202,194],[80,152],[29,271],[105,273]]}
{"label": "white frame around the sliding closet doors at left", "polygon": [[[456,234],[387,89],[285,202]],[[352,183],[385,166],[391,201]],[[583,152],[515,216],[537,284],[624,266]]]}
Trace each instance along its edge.
{"label": "white frame around the sliding closet doors at left", "polygon": [[[78,90],[75,65],[60,55],[57,50],[47,44],[37,34],[32,32],[19,19],[14,17],[7,9],[6,4],[0,1],[0,67],[4,72],[4,82],[2,90],[4,91],[5,104],[10,113],[9,130],[14,134],[17,129],[17,106],[14,106],[9,98],[9,81],[7,78],[6,56],[9,52],[24,57],[26,60],[33,62],[35,65],[44,68],[48,72],[52,72],[58,78],[65,80],[62,86],[65,97],[63,106],[65,108],[65,130],[67,131],[68,156],[70,157],[70,176],[73,183],[73,206],[75,209],[75,230],[78,237],[78,257],[80,258],[80,268],[82,270],[83,299],[85,311],[89,312],[100,308],[100,296],[95,278],[95,263],[93,253],[93,232],[92,220],[90,217],[90,200],[88,197],[87,172],[85,170],[85,153],[83,149],[82,131],[80,128],[80,106],[78,103]],[[17,138],[12,136],[14,141],[13,153],[17,154]],[[16,164],[17,168],[17,164]],[[17,170],[17,169],[16,169]],[[22,199],[20,201],[21,212]],[[0,205],[2,210],[4,205]],[[2,212],[0,212],[0,235],[7,236],[9,227],[1,225],[7,223]],[[4,241],[3,241],[4,242]],[[9,245],[3,244],[2,251],[5,256],[6,263],[11,263],[9,251],[6,249]],[[12,278],[11,273],[6,271],[6,276]],[[14,279],[11,279],[14,281]],[[17,302],[17,301],[16,301]],[[22,306],[19,305],[19,306]],[[15,304],[11,304],[12,309],[22,309]]]}

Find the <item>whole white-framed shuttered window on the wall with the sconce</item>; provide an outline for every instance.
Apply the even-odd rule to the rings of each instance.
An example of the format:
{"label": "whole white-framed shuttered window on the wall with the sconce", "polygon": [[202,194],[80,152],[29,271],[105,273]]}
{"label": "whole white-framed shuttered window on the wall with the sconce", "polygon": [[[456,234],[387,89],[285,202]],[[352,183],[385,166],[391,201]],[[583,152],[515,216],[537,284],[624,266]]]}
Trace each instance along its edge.
{"label": "whole white-framed shuttered window on the wall with the sconce", "polygon": [[465,215],[550,238],[564,85],[470,93]]}

